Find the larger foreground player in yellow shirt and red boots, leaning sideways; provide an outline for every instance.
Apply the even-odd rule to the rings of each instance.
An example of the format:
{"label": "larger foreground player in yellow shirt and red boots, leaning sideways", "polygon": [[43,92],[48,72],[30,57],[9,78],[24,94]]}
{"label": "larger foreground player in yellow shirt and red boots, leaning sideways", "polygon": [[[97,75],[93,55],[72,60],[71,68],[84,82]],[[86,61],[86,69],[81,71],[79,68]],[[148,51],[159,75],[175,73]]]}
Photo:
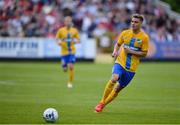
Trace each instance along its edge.
{"label": "larger foreground player in yellow shirt and red boots, leaning sideways", "polygon": [[132,15],[131,28],[119,35],[112,53],[116,59],[112,77],[107,82],[103,97],[95,107],[95,112],[102,112],[103,108],[129,84],[135,75],[140,58],[147,55],[149,37],[141,30],[143,20],[140,14]]}

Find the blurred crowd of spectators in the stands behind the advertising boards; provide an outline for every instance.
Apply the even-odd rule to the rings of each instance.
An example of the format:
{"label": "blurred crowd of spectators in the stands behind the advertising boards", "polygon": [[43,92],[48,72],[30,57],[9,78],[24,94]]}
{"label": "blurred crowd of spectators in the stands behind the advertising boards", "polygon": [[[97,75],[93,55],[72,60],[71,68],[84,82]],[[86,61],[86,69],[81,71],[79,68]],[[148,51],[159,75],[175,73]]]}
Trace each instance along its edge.
{"label": "blurred crowd of spectators in the stands behind the advertising boards", "polygon": [[180,41],[180,21],[155,0],[0,0],[0,36],[54,37],[65,15],[89,37],[117,35],[128,28],[132,13],[145,16],[151,39]]}

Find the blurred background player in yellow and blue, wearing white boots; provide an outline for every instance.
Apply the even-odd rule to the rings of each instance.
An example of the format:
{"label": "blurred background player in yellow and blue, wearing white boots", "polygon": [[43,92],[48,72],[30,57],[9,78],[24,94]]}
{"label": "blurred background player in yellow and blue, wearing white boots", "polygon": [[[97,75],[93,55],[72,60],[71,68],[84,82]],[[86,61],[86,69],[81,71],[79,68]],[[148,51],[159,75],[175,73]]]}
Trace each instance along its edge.
{"label": "blurred background player in yellow and blue, wearing white boots", "polygon": [[64,72],[68,71],[68,88],[73,87],[74,79],[74,63],[75,63],[75,44],[80,43],[80,35],[78,30],[73,27],[72,18],[66,16],[64,19],[65,26],[57,31],[56,39],[61,46],[61,63]]}

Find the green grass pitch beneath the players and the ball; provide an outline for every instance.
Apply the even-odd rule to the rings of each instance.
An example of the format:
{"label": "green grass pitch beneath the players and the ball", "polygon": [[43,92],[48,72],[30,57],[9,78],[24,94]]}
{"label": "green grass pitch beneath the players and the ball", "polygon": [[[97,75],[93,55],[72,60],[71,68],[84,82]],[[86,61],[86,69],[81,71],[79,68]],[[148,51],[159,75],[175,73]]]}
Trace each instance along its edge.
{"label": "green grass pitch beneath the players and the ball", "polygon": [[94,113],[111,68],[76,63],[68,89],[60,63],[0,62],[0,123],[43,124],[48,107],[58,110],[58,124],[180,123],[180,63],[141,63],[119,96]]}

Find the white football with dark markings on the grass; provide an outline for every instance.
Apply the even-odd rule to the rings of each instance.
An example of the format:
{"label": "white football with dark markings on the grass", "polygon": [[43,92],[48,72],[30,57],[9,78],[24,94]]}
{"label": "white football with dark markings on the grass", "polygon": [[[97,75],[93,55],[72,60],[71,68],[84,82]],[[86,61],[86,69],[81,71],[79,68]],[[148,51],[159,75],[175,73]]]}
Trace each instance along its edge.
{"label": "white football with dark markings on the grass", "polygon": [[46,122],[56,122],[58,119],[58,112],[54,108],[47,108],[43,113],[43,118]]}

